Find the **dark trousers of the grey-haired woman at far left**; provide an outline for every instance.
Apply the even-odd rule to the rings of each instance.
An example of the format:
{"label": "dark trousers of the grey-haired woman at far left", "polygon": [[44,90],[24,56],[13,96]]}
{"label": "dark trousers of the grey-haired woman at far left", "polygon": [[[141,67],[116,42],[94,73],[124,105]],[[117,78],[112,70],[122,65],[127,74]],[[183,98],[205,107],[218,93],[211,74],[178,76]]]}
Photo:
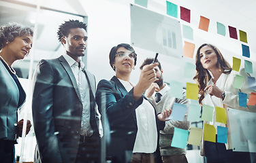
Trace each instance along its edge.
{"label": "dark trousers of the grey-haired woman at far left", "polygon": [[0,140],[0,162],[15,163],[14,159],[14,141]]}

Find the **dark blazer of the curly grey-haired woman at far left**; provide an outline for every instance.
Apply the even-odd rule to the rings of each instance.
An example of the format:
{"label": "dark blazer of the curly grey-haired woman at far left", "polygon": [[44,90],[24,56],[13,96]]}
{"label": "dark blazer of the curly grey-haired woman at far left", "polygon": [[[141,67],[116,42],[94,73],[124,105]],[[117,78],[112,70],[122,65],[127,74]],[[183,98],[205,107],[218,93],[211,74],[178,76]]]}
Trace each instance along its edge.
{"label": "dark blazer of the curly grey-haired woman at far left", "polygon": [[[17,80],[18,82],[18,80]],[[20,85],[20,83],[18,82]],[[15,141],[19,103],[19,90],[14,79],[0,60],[0,140]],[[20,91],[25,96],[25,91],[20,86]],[[25,99],[21,103],[24,103]]]}

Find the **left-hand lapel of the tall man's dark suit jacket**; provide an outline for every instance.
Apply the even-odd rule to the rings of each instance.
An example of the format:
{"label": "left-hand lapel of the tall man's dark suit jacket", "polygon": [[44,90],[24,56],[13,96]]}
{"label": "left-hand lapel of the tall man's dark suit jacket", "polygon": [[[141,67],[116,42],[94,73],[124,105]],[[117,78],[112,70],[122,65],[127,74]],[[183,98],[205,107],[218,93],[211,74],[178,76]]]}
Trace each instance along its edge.
{"label": "left-hand lapel of the tall man's dark suit jacket", "polygon": [[[78,90],[78,84],[76,83],[76,78],[71,70],[71,67],[69,66],[69,64],[67,63],[67,60],[65,60],[65,58],[63,56],[59,57],[59,61],[61,62],[61,65],[64,67],[67,74],[69,75],[71,83],[73,84],[74,89],[76,90],[76,94],[78,95],[78,98],[81,101],[80,92]],[[81,103],[82,103],[82,101],[81,101]]]}

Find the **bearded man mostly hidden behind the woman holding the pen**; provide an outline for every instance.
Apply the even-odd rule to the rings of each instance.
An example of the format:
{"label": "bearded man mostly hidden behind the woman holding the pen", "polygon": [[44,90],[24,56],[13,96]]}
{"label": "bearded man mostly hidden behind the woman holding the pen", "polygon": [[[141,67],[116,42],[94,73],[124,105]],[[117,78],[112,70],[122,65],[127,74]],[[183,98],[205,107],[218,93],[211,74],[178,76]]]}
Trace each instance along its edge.
{"label": "bearded man mostly hidden behind the woman holding the pen", "polygon": [[[153,62],[153,58],[146,58],[142,63],[140,69],[143,69],[145,65],[150,65]],[[163,69],[161,69],[161,63],[156,66],[155,73],[157,74],[157,82],[151,84],[151,86],[146,90],[145,96],[154,105],[157,113],[161,113],[165,109],[172,109],[174,103],[180,103],[188,105],[190,101],[186,99],[186,92],[183,90],[183,97],[175,98],[170,96],[170,87],[163,82]],[[171,147],[172,137],[174,135],[174,128],[182,128],[184,130],[189,130],[191,122],[187,121],[187,113],[183,121],[169,120],[165,122],[165,128],[160,130],[159,137],[159,147],[161,152],[161,158],[163,163],[187,163],[187,158],[185,156],[186,150],[176,147]]]}

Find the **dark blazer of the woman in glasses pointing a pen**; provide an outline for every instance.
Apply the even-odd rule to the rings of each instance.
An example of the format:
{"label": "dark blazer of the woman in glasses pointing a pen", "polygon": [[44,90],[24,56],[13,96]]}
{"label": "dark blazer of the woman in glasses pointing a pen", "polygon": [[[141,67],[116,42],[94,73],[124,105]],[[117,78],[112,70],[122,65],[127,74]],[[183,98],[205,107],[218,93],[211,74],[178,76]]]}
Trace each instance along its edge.
{"label": "dark blazer of the woman in glasses pointing a pen", "polygon": [[[138,131],[135,109],[142,104],[143,98],[148,100],[143,95],[136,103],[133,98],[133,89],[127,92],[115,76],[110,81],[101,80],[97,86],[96,103],[100,113],[103,107],[106,107],[110,126],[110,141],[108,142],[107,139],[107,157],[113,162],[130,162],[131,160]],[[104,105],[105,100],[101,101],[101,99],[106,99],[106,105]],[[165,122],[160,122],[156,113],[155,115],[157,129],[163,130]],[[104,135],[108,136],[107,133]],[[159,147],[157,147],[156,154],[160,156]]]}

